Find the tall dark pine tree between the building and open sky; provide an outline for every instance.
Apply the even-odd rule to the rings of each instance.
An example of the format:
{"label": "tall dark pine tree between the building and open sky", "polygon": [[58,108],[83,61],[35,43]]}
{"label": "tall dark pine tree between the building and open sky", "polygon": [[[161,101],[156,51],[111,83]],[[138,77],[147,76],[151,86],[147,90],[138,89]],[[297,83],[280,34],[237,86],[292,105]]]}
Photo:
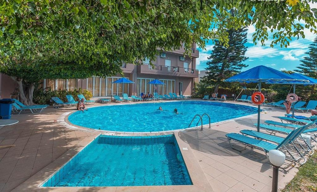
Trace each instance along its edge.
{"label": "tall dark pine tree between the building and open sky", "polygon": [[247,47],[244,46],[244,43],[247,42],[246,31],[246,28],[228,29],[228,47],[221,45],[217,40],[215,41],[213,51],[208,57],[211,61],[206,63],[208,65],[206,67],[207,75],[202,79],[203,82],[215,86],[215,93],[218,92],[219,85],[223,80],[240,72],[243,67],[248,67],[242,63],[248,59],[244,56],[247,51]]}

